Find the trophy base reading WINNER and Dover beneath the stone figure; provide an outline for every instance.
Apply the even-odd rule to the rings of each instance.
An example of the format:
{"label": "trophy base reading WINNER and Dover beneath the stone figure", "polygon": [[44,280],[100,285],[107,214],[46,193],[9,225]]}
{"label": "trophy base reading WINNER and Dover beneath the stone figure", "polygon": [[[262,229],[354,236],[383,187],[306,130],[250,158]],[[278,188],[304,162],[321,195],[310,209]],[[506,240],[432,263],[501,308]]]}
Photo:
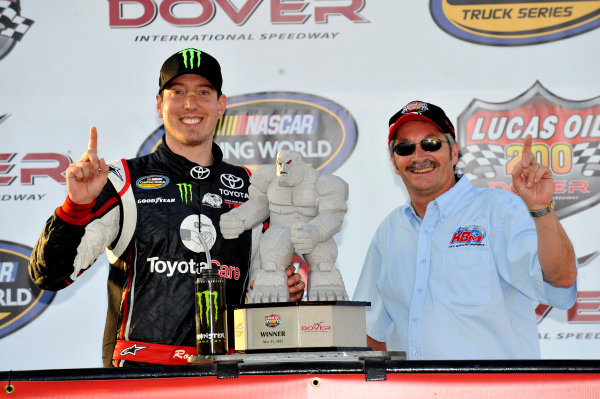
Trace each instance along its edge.
{"label": "trophy base reading WINNER and Dover beneath the stone figure", "polygon": [[234,306],[235,351],[360,351],[370,302],[278,302]]}

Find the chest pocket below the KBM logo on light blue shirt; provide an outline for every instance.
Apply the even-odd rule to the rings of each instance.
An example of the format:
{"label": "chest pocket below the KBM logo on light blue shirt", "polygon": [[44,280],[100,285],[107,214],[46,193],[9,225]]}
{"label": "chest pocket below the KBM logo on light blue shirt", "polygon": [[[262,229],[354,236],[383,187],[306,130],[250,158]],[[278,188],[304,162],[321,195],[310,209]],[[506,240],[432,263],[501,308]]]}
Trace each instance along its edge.
{"label": "chest pocket below the KBM logo on light blue shirt", "polygon": [[481,307],[492,297],[495,267],[485,247],[458,247],[445,250],[440,265],[431,268],[434,297],[451,307]]}

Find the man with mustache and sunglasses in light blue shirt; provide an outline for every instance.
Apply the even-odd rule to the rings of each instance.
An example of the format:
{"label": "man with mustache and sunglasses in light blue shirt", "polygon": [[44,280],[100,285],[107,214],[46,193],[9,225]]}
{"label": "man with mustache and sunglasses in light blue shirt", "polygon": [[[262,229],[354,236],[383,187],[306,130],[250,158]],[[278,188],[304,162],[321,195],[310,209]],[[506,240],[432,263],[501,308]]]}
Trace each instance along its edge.
{"label": "man with mustache and sunglasses in light blue shirt", "polygon": [[371,302],[368,345],[408,359],[539,358],[536,303],[571,307],[577,268],[531,136],[515,195],[455,175],[459,146],[441,108],[413,101],[389,126],[410,201],[377,229],[356,287],[354,299]]}

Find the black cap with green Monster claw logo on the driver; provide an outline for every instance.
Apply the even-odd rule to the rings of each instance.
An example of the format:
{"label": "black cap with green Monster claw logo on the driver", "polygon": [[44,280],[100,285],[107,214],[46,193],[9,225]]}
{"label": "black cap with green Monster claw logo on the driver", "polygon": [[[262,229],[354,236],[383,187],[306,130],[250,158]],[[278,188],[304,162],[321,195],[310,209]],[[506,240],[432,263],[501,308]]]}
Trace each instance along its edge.
{"label": "black cap with green Monster claw logo on the driver", "polygon": [[173,79],[187,73],[204,77],[221,95],[223,77],[221,76],[219,62],[212,55],[195,48],[178,51],[167,58],[162,68],[160,68],[158,94],[162,93]]}

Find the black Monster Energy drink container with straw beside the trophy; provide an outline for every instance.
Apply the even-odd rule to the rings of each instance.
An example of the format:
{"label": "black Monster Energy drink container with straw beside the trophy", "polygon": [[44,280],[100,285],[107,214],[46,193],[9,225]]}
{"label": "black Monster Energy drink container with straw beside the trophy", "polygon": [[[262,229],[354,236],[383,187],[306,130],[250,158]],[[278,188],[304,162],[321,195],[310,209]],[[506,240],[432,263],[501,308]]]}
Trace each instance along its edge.
{"label": "black Monster Energy drink container with straw beside the trophy", "polygon": [[215,269],[196,279],[196,345],[199,356],[227,353],[225,281]]}

